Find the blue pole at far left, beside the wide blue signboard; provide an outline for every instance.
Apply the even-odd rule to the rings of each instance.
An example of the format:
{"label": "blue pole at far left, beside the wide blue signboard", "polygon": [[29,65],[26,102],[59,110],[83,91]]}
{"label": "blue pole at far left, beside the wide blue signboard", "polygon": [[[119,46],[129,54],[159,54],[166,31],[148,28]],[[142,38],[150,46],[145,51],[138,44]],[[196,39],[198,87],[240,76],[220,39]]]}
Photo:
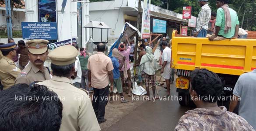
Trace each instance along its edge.
{"label": "blue pole at far left, beside the wide blue signboard", "polygon": [[12,24],[11,24],[11,3],[10,0],[5,0],[6,8],[6,22],[7,22],[7,36],[12,38]]}

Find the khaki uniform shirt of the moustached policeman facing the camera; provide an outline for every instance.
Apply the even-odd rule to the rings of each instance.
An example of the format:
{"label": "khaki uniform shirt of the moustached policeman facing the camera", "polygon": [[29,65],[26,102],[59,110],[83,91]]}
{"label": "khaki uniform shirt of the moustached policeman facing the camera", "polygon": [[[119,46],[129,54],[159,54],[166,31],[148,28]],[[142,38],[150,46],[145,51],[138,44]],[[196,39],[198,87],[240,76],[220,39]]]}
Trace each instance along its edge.
{"label": "khaki uniform shirt of the moustached policeman facing the camera", "polygon": [[15,80],[15,85],[19,83],[26,83],[30,84],[36,80],[44,81],[51,79],[48,69],[44,66],[43,70],[41,71],[32,62],[29,62],[28,66],[25,67],[18,75],[17,79]]}

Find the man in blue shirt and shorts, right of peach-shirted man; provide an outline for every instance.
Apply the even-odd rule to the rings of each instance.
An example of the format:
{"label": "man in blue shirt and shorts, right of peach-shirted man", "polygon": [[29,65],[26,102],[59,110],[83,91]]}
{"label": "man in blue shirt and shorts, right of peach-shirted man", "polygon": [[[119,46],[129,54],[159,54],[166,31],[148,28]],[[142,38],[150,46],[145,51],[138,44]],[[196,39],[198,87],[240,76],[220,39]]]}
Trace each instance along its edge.
{"label": "man in blue shirt and shorts, right of peach-shirted man", "polygon": [[[114,67],[114,69],[112,71],[113,78],[114,78],[114,86],[116,86],[116,89],[121,96],[121,102],[122,103],[129,102],[128,100],[124,100],[122,81],[121,81],[120,72],[119,72],[119,69],[122,69],[122,67],[123,67],[123,63],[125,62],[126,57],[123,57],[123,61],[121,62],[120,65],[119,65],[118,59],[116,57],[110,56],[109,58],[111,59],[113,67]],[[109,103],[113,103],[113,90],[111,90],[109,94],[110,94]]]}

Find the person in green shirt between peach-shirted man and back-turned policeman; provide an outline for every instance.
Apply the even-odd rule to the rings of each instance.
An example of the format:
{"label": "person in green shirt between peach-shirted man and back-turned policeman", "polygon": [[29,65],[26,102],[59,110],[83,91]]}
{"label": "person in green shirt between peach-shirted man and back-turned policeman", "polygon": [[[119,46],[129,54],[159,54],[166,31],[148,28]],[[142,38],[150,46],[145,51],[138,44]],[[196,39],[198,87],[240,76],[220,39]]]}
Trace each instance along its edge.
{"label": "person in green shirt between peach-shirted man and back-turned policeman", "polygon": [[91,90],[93,90],[92,88],[89,89],[88,86],[88,69],[87,69],[87,64],[88,64],[88,59],[89,59],[89,55],[86,54],[86,51],[84,48],[80,48],[80,55],[78,56],[79,61],[80,61],[80,66],[81,66],[81,70],[82,70],[82,80],[81,80],[81,84],[82,84],[82,88],[85,90],[88,90],[89,93],[92,93]]}

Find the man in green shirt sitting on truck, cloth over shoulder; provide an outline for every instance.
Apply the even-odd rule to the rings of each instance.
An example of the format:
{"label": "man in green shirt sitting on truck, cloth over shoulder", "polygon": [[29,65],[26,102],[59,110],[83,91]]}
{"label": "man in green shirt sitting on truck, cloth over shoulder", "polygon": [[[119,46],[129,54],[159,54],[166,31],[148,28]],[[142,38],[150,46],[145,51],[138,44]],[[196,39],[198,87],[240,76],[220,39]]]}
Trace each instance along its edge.
{"label": "man in green shirt sitting on truck, cloth over shoulder", "polygon": [[228,7],[228,0],[217,0],[217,17],[215,24],[215,35],[209,40],[213,41],[217,36],[224,38],[237,38],[239,21],[235,10]]}

